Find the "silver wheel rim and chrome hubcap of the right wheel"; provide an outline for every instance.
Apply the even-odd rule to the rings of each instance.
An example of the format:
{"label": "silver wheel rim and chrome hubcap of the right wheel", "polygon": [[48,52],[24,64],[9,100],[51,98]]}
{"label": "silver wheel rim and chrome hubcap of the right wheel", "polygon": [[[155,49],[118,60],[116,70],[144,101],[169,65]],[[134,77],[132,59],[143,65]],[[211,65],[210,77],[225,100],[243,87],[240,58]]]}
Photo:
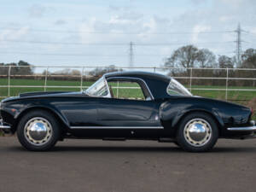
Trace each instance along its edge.
{"label": "silver wheel rim and chrome hubcap of the right wheel", "polygon": [[205,119],[191,119],[183,131],[186,141],[194,146],[201,147],[212,137],[212,127]]}

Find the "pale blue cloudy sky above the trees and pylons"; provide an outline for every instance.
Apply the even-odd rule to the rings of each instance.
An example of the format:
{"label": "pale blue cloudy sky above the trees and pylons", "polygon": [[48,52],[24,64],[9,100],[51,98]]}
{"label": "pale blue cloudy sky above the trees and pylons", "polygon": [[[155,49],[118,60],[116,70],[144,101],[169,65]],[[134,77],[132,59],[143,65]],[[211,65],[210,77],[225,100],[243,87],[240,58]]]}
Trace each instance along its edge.
{"label": "pale blue cloudy sky above the trees and pylons", "polygon": [[159,67],[194,44],[215,55],[256,48],[255,0],[0,0],[0,62]]}

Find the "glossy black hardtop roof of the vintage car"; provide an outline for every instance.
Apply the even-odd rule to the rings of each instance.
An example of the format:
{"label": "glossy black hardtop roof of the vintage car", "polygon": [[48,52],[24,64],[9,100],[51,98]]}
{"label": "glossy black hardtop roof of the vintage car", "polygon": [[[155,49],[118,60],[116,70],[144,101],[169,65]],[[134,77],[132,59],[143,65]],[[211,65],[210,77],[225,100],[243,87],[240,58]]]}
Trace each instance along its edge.
{"label": "glossy black hardtop roof of the vintage car", "polygon": [[171,77],[162,75],[160,73],[149,73],[140,71],[127,71],[127,72],[113,72],[104,74],[106,79],[111,78],[133,78],[143,79],[148,86],[155,99],[170,97],[167,94],[166,88],[170,83]]}

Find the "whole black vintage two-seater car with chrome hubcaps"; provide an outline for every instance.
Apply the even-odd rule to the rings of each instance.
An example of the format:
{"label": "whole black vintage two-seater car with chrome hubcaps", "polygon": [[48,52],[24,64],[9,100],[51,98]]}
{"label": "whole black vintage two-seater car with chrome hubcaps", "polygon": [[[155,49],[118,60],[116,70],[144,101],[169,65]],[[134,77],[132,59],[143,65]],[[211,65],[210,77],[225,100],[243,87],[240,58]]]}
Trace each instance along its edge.
{"label": "whole black vintage two-seater car with chrome hubcaps", "polygon": [[0,112],[0,128],[34,151],[93,138],[173,142],[201,152],[218,138],[252,138],[256,130],[250,108],[192,96],[175,79],[144,72],[107,73],[82,92],[23,93],[4,99]]}

